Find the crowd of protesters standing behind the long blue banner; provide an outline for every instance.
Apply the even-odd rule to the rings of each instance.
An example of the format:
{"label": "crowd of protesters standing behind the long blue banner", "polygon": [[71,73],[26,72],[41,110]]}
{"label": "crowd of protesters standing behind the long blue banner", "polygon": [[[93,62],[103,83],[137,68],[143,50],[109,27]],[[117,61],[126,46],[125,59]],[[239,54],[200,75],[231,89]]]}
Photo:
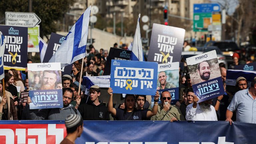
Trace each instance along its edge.
{"label": "crowd of protesters standing behind the long blue banner", "polygon": [[[117,44],[114,44],[116,47]],[[188,46],[186,46],[188,47]],[[101,88],[93,85],[89,94],[84,91],[78,92],[80,74],[82,76],[101,76],[106,68],[108,51],[100,49],[96,51],[93,45],[89,46],[88,56],[84,61],[73,63],[70,75],[63,75],[62,81],[54,81],[56,89],[63,91],[63,108],[52,109],[29,109],[31,98],[30,87],[40,87],[39,76],[34,76],[34,83],[28,82],[27,71],[10,69],[6,71],[3,81],[0,83],[0,119],[1,120],[64,120],[70,114],[77,114],[83,120],[210,120],[210,121],[233,121],[256,123],[256,108],[253,102],[256,98],[256,79],[249,80],[248,85],[244,77],[236,80],[236,88],[227,91],[226,66],[221,63],[220,73],[224,84],[225,94],[214,99],[198,102],[192,89],[192,82],[184,60],[184,69],[181,69],[179,79],[179,101],[171,105],[171,95],[168,91],[161,94],[157,89],[172,88],[171,83],[164,81],[165,73],[159,78],[160,86],[156,89],[154,104],[151,107],[151,96],[127,94],[123,104],[113,105],[113,90],[109,88],[108,103],[100,99]],[[239,54],[233,55],[234,63],[239,64]],[[32,63],[28,60],[28,63]],[[83,68],[82,67],[83,63]],[[81,71],[82,69],[82,71]],[[199,70],[200,71],[200,70]],[[159,74],[160,75],[160,74]],[[256,78],[256,77],[255,77]],[[82,79],[81,79],[82,80]],[[16,86],[20,87],[17,91]],[[62,87],[61,87],[62,86]],[[3,87],[5,91],[3,91]],[[158,104],[160,97],[161,103]]]}

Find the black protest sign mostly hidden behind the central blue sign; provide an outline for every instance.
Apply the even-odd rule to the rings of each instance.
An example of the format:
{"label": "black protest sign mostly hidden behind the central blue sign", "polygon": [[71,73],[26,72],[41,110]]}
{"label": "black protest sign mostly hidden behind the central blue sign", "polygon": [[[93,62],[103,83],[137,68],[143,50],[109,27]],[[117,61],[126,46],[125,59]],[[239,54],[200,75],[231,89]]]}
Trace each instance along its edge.
{"label": "black protest sign mostly hidden behind the central blue sign", "polygon": [[111,60],[130,60],[131,51],[111,47],[103,75],[110,75]]}

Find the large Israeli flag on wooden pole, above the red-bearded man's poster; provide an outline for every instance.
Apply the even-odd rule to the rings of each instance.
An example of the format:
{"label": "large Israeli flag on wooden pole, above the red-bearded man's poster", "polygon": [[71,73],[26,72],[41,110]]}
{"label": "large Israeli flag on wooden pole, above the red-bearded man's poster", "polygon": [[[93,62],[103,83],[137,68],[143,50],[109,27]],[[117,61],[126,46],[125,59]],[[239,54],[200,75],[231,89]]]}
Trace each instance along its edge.
{"label": "large Israeli flag on wooden pole, above the red-bearded man's poster", "polygon": [[49,62],[60,62],[64,67],[86,56],[90,11],[91,6],[76,21]]}

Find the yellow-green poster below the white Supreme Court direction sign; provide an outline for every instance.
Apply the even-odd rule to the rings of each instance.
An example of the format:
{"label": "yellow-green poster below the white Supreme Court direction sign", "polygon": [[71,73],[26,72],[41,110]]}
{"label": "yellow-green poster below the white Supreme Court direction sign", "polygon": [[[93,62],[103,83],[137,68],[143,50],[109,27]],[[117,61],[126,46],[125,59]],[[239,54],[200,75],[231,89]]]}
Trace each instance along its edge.
{"label": "yellow-green poster below the white Supreme Court direction sign", "polygon": [[39,52],[38,36],[40,26],[28,28],[28,52]]}

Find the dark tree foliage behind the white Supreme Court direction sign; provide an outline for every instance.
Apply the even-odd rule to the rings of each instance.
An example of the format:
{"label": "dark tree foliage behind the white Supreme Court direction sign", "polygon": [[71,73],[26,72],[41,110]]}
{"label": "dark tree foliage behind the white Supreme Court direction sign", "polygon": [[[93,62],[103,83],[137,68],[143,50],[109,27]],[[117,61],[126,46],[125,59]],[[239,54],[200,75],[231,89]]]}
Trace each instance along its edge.
{"label": "dark tree foliage behind the white Supreme Court direction sign", "polygon": [[[41,37],[56,32],[57,21],[63,19],[73,3],[74,0],[32,0],[32,12],[41,19]],[[6,11],[28,12],[28,0],[3,0],[0,3],[0,16],[4,16]]]}

